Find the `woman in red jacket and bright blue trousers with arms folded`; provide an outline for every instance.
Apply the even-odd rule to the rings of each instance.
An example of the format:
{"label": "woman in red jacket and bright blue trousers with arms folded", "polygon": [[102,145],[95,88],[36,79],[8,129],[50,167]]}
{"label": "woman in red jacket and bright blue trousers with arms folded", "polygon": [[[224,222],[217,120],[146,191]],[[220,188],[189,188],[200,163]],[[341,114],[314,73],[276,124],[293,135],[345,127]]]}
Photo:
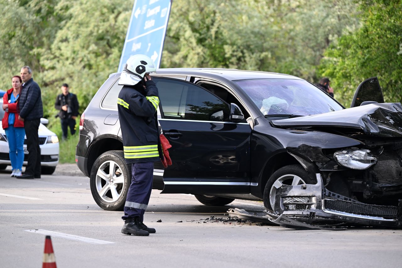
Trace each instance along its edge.
{"label": "woman in red jacket and bright blue trousers with arms folded", "polygon": [[20,96],[21,77],[16,75],[12,79],[12,89],[9,89],[3,96],[3,110],[5,111],[2,120],[3,129],[6,131],[8,147],[10,148],[10,162],[12,166],[11,177],[21,176],[24,162],[24,122],[18,120],[18,98]]}

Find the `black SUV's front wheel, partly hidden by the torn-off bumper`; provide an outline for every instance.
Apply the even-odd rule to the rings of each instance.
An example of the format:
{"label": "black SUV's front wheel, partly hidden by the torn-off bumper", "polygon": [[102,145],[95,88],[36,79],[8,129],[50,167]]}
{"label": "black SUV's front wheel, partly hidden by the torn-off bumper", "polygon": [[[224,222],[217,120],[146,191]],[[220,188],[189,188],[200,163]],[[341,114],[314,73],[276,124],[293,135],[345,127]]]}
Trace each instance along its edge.
{"label": "black SUV's front wheel, partly hidden by the torn-off bumper", "polygon": [[299,165],[288,165],[281,167],[269,177],[267,184],[264,188],[264,206],[270,212],[273,212],[273,205],[275,204],[275,194],[277,189],[283,184],[285,185],[299,185],[303,183],[315,184],[316,179],[310,177],[306,170]]}

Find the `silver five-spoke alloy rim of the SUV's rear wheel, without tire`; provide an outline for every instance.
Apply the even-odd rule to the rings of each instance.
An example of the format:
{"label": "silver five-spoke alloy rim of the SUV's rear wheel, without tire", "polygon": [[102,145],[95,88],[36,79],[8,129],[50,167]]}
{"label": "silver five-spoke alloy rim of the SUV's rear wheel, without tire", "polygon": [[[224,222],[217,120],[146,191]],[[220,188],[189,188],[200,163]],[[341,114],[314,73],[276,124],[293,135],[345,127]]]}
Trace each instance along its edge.
{"label": "silver five-spoke alloy rim of the SUV's rear wheel, without tire", "polygon": [[96,191],[108,203],[116,202],[124,188],[124,175],[115,161],[103,162],[96,171]]}

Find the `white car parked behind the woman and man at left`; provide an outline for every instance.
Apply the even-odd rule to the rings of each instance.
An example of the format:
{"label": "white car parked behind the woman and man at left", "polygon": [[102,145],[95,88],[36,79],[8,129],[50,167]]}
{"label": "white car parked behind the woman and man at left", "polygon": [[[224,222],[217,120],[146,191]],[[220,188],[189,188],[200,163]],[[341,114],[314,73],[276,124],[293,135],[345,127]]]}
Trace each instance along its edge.
{"label": "white car parked behind the woman and man at left", "polygon": [[[3,98],[0,99],[0,105],[3,105]],[[0,109],[0,118],[3,118],[4,110]],[[44,124],[48,124],[49,120],[41,118],[41,124],[39,125],[39,147],[41,148],[41,168],[42,174],[53,174],[59,163],[59,139],[57,135],[51,132]],[[27,165],[27,136],[24,140],[24,163]],[[0,169],[5,169],[8,165],[11,165],[10,155],[8,149],[8,142],[6,132],[2,128],[2,122],[0,120]]]}

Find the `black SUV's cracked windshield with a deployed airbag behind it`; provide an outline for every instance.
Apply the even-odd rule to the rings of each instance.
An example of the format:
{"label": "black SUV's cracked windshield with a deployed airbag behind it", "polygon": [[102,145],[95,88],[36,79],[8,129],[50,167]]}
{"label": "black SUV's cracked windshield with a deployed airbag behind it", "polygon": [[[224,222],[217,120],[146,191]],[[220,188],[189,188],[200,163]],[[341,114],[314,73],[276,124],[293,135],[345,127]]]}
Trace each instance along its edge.
{"label": "black SUV's cracked windshield with a deployed airbag behind it", "polygon": [[234,81],[264,115],[313,115],[343,107],[306,80],[248,79]]}

